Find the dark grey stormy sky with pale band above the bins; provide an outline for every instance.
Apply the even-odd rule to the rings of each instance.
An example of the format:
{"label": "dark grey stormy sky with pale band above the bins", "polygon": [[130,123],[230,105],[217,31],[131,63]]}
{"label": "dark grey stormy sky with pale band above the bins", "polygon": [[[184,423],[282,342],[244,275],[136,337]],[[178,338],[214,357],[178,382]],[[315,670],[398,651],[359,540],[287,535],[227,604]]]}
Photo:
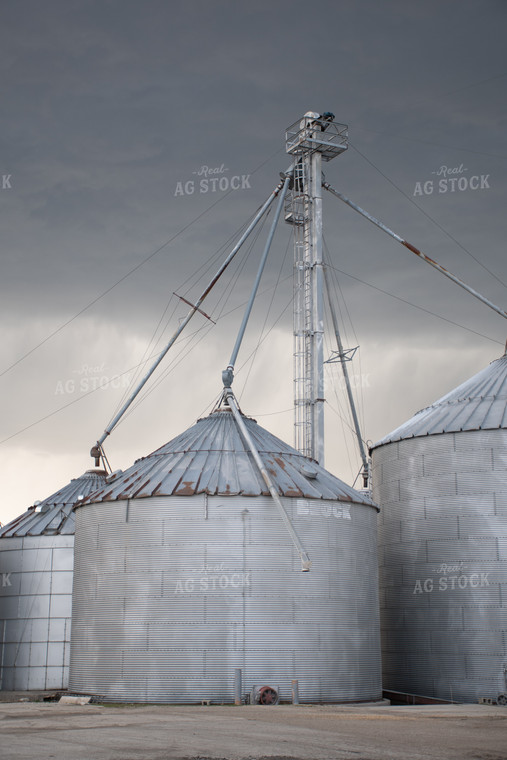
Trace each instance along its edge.
{"label": "dark grey stormy sky with pale band above the bins", "polygon": [[[288,166],[285,129],[307,110],[349,125],[331,185],[505,308],[506,22],[504,0],[2,0],[0,521],[93,465],[153,335],[163,344],[186,314],[173,291],[198,296]],[[324,200],[375,441],[503,354],[506,323]],[[195,318],[181,363],[168,372],[167,358],[111,435],[113,469],[210,410],[263,235],[205,307],[216,327]],[[238,367],[266,339],[234,387],[292,443],[290,236],[281,224]],[[332,372],[326,465],[352,483]]]}

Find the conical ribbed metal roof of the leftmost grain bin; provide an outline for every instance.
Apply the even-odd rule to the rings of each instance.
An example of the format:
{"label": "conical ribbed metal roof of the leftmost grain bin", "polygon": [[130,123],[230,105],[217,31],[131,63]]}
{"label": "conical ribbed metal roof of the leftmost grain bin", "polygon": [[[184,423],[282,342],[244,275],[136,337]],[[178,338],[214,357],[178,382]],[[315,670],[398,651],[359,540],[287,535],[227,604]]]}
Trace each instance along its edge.
{"label": "conical ribbed metal roof of the leftmost grain bin", "polygon": [[36,507],[30,507],[0,529],[0,539],[15,536],[72,535],[75,503],[100,488],[106,477],[104,470],[87,470],[74,478]]}

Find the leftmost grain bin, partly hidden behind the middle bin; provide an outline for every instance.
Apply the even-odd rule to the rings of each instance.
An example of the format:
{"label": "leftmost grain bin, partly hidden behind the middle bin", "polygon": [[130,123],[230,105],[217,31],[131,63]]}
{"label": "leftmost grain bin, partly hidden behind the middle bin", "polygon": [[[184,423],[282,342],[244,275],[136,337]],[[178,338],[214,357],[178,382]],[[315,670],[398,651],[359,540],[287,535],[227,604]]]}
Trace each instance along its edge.
{"label": "leftmost grain bin, partly hidden behind the middle bin", "polygon": [[104,483],[90,470],[0,530],[0,688],[66,688],[74,514]]}

